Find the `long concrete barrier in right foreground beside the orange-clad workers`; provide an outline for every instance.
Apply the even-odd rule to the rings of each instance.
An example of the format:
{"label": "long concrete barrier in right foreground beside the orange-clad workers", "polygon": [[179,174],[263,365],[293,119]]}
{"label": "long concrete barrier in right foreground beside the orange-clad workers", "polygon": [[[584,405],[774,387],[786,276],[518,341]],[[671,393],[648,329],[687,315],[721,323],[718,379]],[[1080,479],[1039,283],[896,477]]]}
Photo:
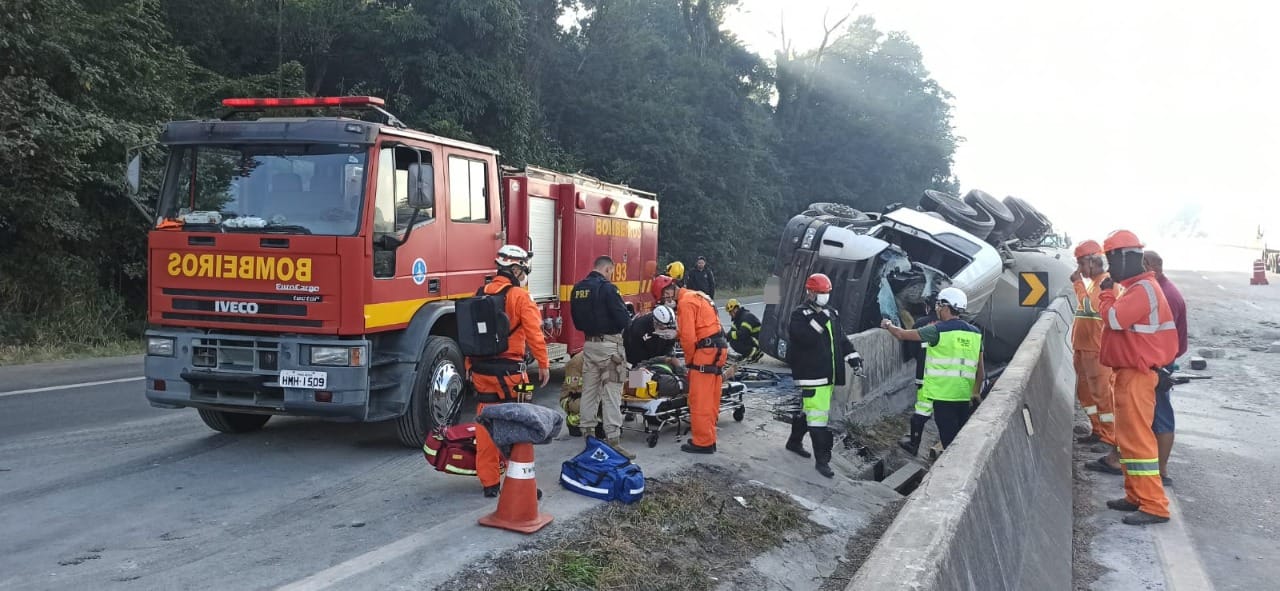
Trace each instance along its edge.
{"label": "long concrete barrier in right foreground beside the orange-clad workers", "polygon": [[1070,327],[1059,298],[847,588],[1071,588]]}

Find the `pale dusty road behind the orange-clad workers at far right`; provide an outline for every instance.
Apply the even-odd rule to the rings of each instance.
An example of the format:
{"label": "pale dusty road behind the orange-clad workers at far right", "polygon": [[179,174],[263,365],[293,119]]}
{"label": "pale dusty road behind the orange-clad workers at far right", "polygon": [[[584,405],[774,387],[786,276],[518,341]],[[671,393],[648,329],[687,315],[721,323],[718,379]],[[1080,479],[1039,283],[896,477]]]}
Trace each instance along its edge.
{"label": "pale dusty road behind the orange-clad workers at far right", "polygon": [[1207,359],[1203,374],[1212,380],[1174,389],[1178,425],[1169,468],[1170,490],[1219,590],[1280,581],[1280,440],[1274,436],[1280,344],[1276,353],[1266,352],[1280,342],[1280,284],[1249,285],[1247,267],[1240,269],[1169,274],[1187,299],[1190,354],[1212,348],[1226,356]]}

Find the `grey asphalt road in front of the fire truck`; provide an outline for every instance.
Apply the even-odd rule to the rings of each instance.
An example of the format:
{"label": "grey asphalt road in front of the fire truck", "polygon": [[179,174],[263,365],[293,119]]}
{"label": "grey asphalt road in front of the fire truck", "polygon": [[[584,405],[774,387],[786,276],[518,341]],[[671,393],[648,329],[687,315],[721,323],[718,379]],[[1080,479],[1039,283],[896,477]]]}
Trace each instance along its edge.
{"label": "grey asphalt road in front of the fire truck", "polygon": [[[0,590],[320,588],[371,551],[399,558],[378,569],[387,588],[431,563],[417,532],[484,530],[479,484],[428,472],[389,423],[274,417],[223,435],[151,408],[141,375],[138,357],[0,367]],[[396,554],[404,540],[419,546]]]}

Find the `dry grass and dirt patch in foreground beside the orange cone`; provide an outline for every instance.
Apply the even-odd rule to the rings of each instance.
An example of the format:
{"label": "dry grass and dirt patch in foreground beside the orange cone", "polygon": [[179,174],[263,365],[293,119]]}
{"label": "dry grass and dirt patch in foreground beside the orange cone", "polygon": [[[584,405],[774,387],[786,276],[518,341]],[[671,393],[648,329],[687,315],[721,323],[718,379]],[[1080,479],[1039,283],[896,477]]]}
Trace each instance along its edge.
{"label": "dry grass and dirt patch in foreground beside the orange cone", "polygon": [[826,531],[788,496],[726,468],[699,464],[645,485],[640,503],[593,509],[436,588],[710,590],[756,554]]}

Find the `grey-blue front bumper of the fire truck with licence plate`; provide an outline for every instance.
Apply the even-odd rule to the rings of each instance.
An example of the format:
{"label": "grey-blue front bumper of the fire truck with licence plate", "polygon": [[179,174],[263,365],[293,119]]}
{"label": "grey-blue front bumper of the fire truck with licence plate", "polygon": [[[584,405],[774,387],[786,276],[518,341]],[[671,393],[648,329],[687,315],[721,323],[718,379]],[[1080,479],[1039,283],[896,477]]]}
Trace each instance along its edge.
{"label": "grey-blue front bumper of the fire truck with licence plate", "polygon": [[159,408],[366,421],[369,342],[152,329],[147,400]]}

